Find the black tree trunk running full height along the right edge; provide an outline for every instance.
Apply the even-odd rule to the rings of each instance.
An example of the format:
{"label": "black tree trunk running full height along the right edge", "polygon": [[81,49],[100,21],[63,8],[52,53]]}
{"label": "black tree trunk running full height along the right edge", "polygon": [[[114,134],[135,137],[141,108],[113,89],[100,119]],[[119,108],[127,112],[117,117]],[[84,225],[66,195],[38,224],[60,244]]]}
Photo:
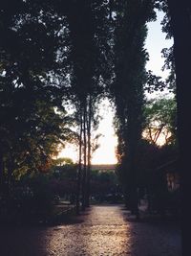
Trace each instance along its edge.
{"label": "black tree trunk running full height along the right edge", "polygon": [[189,225],[191,210],[188,205],[191,195],[190,172],[190,127],[191,109],[190,74],[191,74],[191,3],[190,1],[168,0],[174,35],[175,64],[177,77],[178,138],[180,145],[180,194],[182,222],[182,255],[191,255]]}

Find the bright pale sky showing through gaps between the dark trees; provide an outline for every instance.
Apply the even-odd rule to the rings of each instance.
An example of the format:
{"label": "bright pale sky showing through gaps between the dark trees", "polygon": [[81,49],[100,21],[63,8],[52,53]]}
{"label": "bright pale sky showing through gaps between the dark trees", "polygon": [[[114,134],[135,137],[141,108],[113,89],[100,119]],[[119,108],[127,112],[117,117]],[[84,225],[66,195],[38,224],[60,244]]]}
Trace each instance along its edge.
{"label": "bright pale sky showing through gaps between the dark trees", "polygon": [[[169,48],[173,44],[173,40],[165,39],[165,34],[161,32],[160,25],[163,13],[157,13],[157,21],[147,24],[148,36],[145,41],[145,48],[149,53],[150,59],[146,64],[146,69],[152,70],[155,75],[162,77],[164,80],[168,75],[168,71],[161,71],[164,58],[161,58],[160,52],[163,48]],[[151,99],[166,93],[168,92],[164,91],[163,93],[154,93],[152,95],[146,94],[146,97]],[[114,111],[107,100],[102,101],[99,108],[102,120],[100,121],[97,133],[101,133],[102,136],[98,140],[100,146],[93,154],[92,164],[116,164],[117,136],[115,135],[115,129],[113,127]],[[77,149],[72,145],[67,145],[58,156],[70,157],[76,162],[78,156]]]}

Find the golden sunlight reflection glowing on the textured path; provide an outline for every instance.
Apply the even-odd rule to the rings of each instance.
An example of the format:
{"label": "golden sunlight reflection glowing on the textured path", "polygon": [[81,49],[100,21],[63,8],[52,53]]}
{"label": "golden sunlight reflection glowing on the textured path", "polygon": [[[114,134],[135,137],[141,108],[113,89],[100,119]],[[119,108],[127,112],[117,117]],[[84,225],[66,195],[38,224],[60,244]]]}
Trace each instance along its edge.
{"label": "golden sunlight reflection glowing on the textured path", "polygon": [[82,223],[59,227],[47,244],[50,255],[127,255],[130,227],[118,206],[92,207],[83,218]]}

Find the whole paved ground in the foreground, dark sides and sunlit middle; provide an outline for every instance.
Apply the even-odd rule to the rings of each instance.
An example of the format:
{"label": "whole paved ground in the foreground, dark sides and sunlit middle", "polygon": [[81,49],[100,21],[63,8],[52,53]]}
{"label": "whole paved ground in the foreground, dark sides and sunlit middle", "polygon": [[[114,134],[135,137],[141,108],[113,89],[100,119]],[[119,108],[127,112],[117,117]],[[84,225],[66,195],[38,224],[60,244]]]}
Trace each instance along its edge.
{"label": "whole paved ground in the foreground, dark sides and sunlit middle", "polygon": [[2,256],[180,256],[174,221],[134,221],[120,205],[92,206],[52,227],[1,227]]}

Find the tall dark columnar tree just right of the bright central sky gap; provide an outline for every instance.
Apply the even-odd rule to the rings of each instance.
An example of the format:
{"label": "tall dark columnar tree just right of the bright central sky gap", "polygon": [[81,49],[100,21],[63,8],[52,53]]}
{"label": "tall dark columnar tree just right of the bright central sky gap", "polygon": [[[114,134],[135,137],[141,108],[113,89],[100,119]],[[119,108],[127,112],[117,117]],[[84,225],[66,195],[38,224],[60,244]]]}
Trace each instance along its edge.
{"label": "tall dark columnar tree just right of the bright central sky gap", "polygon": [[137,217],[136,155],[141,138],[143,85],[146,82],[145,23],[155,18],[152,8],[150,1],[116,1],[115,10],[115,79],[111,92],[117,113],[118,174],[123,180],[126,204]]}

